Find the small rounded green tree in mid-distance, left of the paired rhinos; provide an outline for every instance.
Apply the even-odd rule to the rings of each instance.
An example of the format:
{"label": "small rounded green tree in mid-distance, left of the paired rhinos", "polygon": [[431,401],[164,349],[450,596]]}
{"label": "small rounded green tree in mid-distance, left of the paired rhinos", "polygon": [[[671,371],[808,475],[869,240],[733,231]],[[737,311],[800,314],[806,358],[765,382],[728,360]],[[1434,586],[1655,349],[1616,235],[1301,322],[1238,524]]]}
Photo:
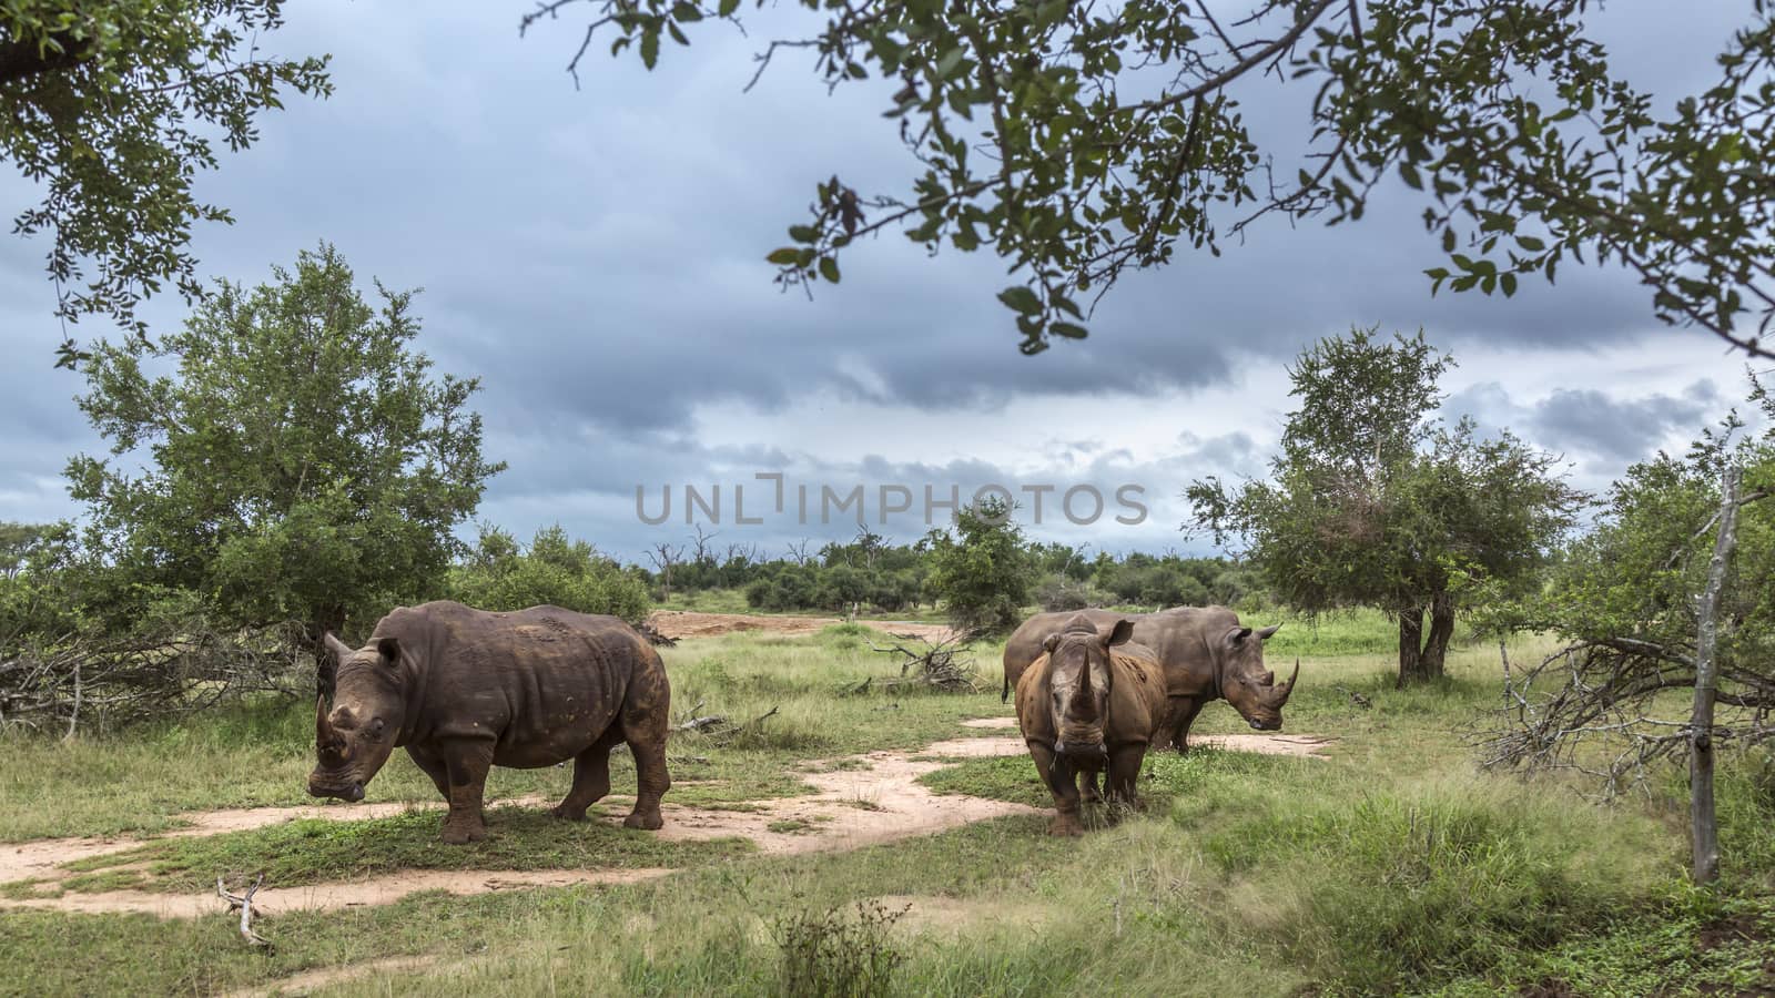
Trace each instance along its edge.
{"label": "small rounded green tree in mid-distance, left of the paired rhinos", "polygon": [[927,535],[932,572],[927,588],[943,600],[958,630],[1003,634],[1030,606],[1030,556],[1012,506],[989,495],[955,513],[953,535]]}

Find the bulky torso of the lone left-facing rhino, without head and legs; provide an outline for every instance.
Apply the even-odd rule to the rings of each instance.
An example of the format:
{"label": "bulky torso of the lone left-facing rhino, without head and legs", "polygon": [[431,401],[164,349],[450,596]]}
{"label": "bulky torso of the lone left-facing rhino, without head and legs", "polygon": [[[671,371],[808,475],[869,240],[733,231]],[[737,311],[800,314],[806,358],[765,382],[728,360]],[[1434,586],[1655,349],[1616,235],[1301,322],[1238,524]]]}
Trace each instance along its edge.
{"label": "bulky torso of the lone left-facing rhino, without head and legs", "polygon": [[433,602],[390,613],[414,668],[408,741],[497,739],[501,765],[548,765],[611,726],[637,669],[659,657],[614,616],[561,607],[490,613]]}

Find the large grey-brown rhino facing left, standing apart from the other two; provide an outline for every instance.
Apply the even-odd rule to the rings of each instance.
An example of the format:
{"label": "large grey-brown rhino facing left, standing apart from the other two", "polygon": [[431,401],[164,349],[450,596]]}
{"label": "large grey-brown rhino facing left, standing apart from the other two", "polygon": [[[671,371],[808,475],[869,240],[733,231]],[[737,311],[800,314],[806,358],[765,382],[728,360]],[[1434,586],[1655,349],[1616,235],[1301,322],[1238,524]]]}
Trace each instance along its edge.
{"label": "large grey-brown rhino facing left, standing apart from the other two", "polygon": [[316,701],[309,794],[362,801],[405,748],[449,801],[444,842],[486,838],[481,792],[493,765],[573,760],[573,788],[554,808],[584,820],[611,790],[611,749],[635,758],[628,828],[657,829],[671,726],[671,687],[653,646],[614,616],[559,607],[486,613],[454,602],[401,607],[364,648],[332,634],[334,703]]}

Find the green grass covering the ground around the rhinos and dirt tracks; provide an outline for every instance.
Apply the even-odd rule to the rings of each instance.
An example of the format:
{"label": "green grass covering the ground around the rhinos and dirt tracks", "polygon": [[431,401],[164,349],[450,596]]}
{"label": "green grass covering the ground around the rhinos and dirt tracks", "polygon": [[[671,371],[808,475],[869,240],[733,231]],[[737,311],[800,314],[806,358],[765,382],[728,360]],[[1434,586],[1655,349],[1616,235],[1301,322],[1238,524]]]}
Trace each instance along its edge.
{"label": "green grass covering the ground around the rhinos and dirt tracks", "polygon": [[[941,899],[974,913],[941,929],[916,918],[854,925],[864,943],[891,950],[895,994],[1464,998],[1535,987],[1775,987],[1775,966],[1764,964],[1775,939],[1775,780],[1766,760],[1729,755],[1722,764],[1727,877],[1715,890],[1690,890],[1679,774],[1651,799],[1599,806],[1564,778],[1480,772],[1471,741],[1484,730],[1482,712],[1500,705],[1495,646],[1457,648],[1445,682],[1393,691],[1386,622],[1351,618],[1347,634],[1326,623],[1319,650],[1299,648],[1301,685],[1285,723],[1289,732],[1337,739],[1329,760],[1203,748],[1182,758],[1154,755],[1141,781],[1147,812],[1106,815],[1115,820],[1083,838],[1051,838],[1045,815],[1024,815],[856,852],[777,858],[495,808],[492,838],[467,849],[437,842],[438,812],[163,840],[85,863],[78,877],[89,879],[66,886],[201,890],[217,874],[257,870],[280,886],[403,868],[682,872],[609,888],[431,893],[385,907],[273,913],[259,923],[275,943],[270,950],[245,950],[222,916],[12,911],[0,916],[0,993],[209,994],[307,968],[419,954],[421,966],[346,980],[330,993],[776,994],[785,980],[808,978],[809,968],[793,961],[813,959],[808,947],[781,945],[785,925],[820,923],[884,895]],[[1294,622],[1269,645],[1278,671],[1283,655],[1294,655],[1276,643],[1290,630]],[[674,778],[698,783],[674,787],[667,801],[746,806],[797,792],[801,772],[840,769],[845,755],[916,751],[969,733],[958,726],[964,717],[1008,714],[996,689],[838,696],[895,669],[861,638],[838,627],[667,648],[678,710],[701,700],[699,714],[749,725],[777,709],[742,735],[674,739]],[[1298,639],[1306,641],[1306,629]],[[1512,657],[1542,648],[1518,641]],[[980,661],[990,673],[998,648],[983,646]],[[1248,732],[1225,705],[1203,710],[1196,730]],[[9,755],[0,771],[0,835],[165,822],[178,810],[217,806],[206,794],[295,803],[307,739],[304,712],[275,707],[192,721],[183,735],[154,728],[73,746],[12,739],[0,748],[23,756]],[[20,758],[27,765],[16,765]],[[614,788],[625,792],[627,758],[612,762]],[[399,767],[412,769],[405,760],[390,765],[371,797],[401,799],[422,781]],[[234,787],[222,790],[229,780]],[[497,771],[495,780],[509,780],[508,794],[556,794],[568,771]],[[962,760],[925,783],[1051,806],[1028,756]],[[431,799],[430,785],[419,790],[412,799]],[[62,799],[71,801],[66,813]],[[142,813],[119,813],[126,808]],[[0,897],[55,890],[12,884]],[[1040,929],[1014,916],[1028,913],[1040,916]]]}

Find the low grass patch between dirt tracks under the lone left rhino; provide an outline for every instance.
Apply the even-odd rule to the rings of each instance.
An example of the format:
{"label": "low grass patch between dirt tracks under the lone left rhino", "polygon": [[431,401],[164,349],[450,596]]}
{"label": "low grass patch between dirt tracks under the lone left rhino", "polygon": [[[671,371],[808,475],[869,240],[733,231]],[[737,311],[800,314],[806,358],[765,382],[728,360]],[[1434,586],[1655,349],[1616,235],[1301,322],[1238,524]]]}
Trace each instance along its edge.
{"label": "low grass patch between dirt tracks under the lone left rhino", "polygon": [[[69,863],[69,870],[130,870],[131,886],[176,891],[201,890],[222,877],[264,874],[286,886],[341,881],[398,870],[579,870],[690,867],[717,863],[753,851],[751,842],[724,838],[667,842],[646,831],[600,820],[568,822],[536,808],[490,808],[486,840],[444,845],[440,812],[410,812],[390,819],[334,822],[291,820],[254,831],[202,838],[169,838]],[[64,881],[67,890],[114,890],[105,877]]]}

